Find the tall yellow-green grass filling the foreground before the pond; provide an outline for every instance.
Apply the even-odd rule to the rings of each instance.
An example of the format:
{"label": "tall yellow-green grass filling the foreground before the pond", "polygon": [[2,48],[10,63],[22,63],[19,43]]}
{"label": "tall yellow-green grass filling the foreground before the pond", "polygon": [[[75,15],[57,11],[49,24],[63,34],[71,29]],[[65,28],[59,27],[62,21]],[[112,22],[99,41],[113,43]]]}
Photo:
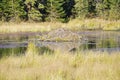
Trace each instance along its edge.
{"label": "tall yellow-green grass filling the foreground before the pond", "polygon": [[10,56],[0,60],[0,80],[120,80],[120,53]]}

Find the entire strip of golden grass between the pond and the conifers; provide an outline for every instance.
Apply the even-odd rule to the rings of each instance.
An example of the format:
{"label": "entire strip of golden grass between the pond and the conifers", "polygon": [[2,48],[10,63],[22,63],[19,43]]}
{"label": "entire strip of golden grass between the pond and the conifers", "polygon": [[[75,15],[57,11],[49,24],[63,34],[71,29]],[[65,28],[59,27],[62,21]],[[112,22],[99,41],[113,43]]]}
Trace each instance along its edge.
{"label": "entire strip of golden grass between the pond and the conifers", "polygon": [[11,33],[11,32],[44,32],[50,31],[55,28],[68,28],[71,30],[120,30],[120,20],[119,21],[107,21],[102,19],[86,19],[86,20],[71,20],[69,23],[60,22],[44,22],[44,23],[1,23],[0,32],[1,33]]}

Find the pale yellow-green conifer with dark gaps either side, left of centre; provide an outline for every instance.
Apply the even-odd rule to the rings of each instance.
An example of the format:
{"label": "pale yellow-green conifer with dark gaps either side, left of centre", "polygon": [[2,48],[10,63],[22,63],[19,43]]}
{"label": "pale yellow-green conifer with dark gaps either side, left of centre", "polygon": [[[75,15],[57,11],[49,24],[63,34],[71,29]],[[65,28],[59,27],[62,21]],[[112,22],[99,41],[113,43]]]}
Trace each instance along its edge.
{"label": "pale yellow-green conifer with dark gaps either side, left of centre", "polygon": [[40,21],[42,14],[39,9],[43,8],[37,0],[26,0],[27,16],[29,21]]}

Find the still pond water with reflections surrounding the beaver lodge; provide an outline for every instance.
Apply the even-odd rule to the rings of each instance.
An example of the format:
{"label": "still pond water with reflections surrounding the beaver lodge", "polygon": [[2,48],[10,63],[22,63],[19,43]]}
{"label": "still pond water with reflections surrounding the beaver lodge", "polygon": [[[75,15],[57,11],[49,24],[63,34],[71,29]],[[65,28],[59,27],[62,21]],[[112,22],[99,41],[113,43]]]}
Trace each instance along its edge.
{"label": "still pond water with reflections surrounding the beaver lodge", "polygon": [[82,42],[45,42],[39,39],[41,33],[16,33],[0,34],[0,56],[9,55],[8,53],[25,53],[30,42],[34,43],[42,52],[46,50],[61,51],[120,51],[120,32],[119,31],[80,31],[79,35],[85,36]]}

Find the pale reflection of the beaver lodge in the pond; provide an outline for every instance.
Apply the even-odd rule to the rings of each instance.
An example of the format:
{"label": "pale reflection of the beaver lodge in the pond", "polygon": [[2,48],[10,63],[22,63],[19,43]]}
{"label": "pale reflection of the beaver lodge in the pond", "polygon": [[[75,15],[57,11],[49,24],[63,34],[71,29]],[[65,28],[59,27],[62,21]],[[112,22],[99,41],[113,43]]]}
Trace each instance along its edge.
{"label": "pale reflection of the beaver lodge in the pond", "polygon": [[38,47],[45,46],[51,50],[60,51],[73,51],[78,49],[80,45],[80,42],[40,42],[37,44]]}

